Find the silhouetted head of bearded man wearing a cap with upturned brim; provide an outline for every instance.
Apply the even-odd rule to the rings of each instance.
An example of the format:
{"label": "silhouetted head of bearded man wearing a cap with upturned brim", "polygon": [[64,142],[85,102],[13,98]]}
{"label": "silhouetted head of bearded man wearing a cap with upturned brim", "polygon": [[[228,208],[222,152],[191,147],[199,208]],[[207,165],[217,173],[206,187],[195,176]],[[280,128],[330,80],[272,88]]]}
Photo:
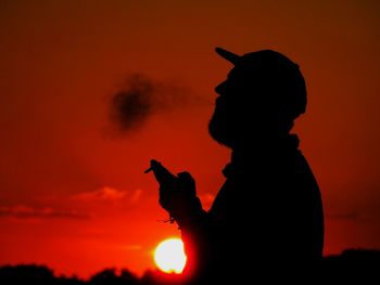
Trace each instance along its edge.
{"label": "silhouetted head of bearded man wearing a cap with upturned brim", "polygon": [[215,112],[208,125],[219,143],[235,147],[252,133],[289,133],[306,109],[306,87],[299,66],[281,53],[262,50],[242,56],[216,49],[233,64],[215,88]]}

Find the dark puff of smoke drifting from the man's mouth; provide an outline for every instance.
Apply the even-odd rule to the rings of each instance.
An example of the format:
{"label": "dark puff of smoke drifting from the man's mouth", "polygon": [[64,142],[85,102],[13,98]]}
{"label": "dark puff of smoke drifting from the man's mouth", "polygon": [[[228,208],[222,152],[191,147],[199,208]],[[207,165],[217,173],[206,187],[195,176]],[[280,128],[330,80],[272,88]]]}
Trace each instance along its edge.
{"label": "dark puff of smoke drifting from the man's mouth", "polygon": [[154,114],[200,103],[202,100],[183,87],[132,74],[111,98],[112,127],[118,133],[129,134],[141,129]]}

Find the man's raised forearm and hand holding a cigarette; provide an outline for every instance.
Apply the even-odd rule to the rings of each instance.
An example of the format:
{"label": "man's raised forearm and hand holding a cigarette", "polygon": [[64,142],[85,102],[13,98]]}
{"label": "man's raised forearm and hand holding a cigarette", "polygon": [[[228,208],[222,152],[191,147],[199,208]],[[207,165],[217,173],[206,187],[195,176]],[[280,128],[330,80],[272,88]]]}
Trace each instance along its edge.
{"label": "man's raised forearm and hand holding a cigarette", "polygon": [[188,257],[186,274],[202,275],[213,257],[213,231],[208,215],[197,196],[195,181],[189,172],[170,173],[162,164],[151,160],[150,169],[160,184],[160,205],[181,231]]}

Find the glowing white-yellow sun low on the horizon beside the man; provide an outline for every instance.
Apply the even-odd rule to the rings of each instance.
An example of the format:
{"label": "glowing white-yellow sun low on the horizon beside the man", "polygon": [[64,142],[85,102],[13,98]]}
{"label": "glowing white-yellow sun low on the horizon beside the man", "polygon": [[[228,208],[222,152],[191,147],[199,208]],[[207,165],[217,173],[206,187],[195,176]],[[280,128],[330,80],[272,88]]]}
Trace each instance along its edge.
{"label": "glowing white-yellow sun low on the horizon beside the man", "polygon": [[186,264],[183,243],[172,237],[161,242],[154,250],[154,261],[157,268],[166,273],[180,274]]}

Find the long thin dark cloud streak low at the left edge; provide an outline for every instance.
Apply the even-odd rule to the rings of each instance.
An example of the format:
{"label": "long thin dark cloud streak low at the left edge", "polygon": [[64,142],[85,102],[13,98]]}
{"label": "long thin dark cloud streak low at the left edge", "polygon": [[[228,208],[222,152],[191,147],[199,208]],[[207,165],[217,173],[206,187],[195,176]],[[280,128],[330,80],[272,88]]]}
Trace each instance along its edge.
{"label": "long thin dark cloud streak low at the left edge", "polygon": [[58,210],[52,207],[31,207],[17,205],[11,207],[0,207],[0,217],[11,217],[18,219],[40,218],[40,219],[89,219],[87,213],[75,210]]}

